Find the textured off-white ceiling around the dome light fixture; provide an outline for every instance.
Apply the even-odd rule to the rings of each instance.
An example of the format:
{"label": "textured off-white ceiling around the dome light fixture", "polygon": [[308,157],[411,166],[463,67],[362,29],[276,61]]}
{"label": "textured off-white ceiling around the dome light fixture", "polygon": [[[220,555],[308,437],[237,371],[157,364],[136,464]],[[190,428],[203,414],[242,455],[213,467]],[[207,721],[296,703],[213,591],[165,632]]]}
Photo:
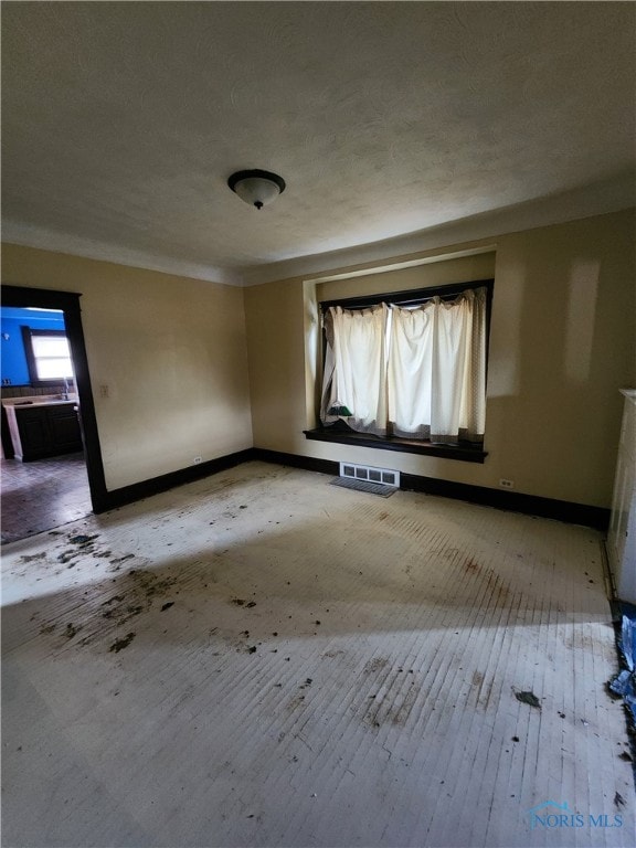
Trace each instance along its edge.
{"label": "textured off-white ceiling around the dome light fixture", "polygon": [[[4,3],[3,237],[240,283],[587,186],[629,205],[635,22],[621,2]],[[226,187],[243,168],[287,190],[257,212]]]}

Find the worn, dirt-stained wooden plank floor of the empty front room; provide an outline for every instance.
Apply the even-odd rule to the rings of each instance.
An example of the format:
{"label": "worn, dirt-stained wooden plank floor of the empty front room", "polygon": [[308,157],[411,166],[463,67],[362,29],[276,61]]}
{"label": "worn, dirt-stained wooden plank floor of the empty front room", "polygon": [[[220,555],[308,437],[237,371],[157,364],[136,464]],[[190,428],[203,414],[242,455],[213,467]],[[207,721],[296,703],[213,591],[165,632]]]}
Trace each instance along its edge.
{"label": "worn, dirt-stained wooden plank floor of the empty front room", "polygon": [[4,545],[3,846],[635,844],[601,536],[329,480]]}

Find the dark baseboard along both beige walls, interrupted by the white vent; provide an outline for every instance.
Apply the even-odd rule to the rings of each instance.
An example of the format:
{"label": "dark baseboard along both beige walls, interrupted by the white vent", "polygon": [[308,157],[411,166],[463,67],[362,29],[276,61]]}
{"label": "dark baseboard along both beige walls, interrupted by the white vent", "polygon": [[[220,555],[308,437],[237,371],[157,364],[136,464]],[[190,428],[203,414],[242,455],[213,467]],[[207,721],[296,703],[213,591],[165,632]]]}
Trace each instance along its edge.
{"label": "dark baseboard along both beige walls, interrupted by the white vent", "polygon": [[[105,492],[99,498],[98,505],[94,505],[94,511],[105,512],[108,509],[116,509],[126,504],[149,498],[176,486],[193,483],[202,477],[224,471],[227,468],[233,468],[236,465],[248,463],[253,459],[286,465],[292,468],[303,468],[308,471],[318,471],[319,474],[330,474],[333,476],[340,474],[340,464],[332,459],[318,459],[312,456],[286,454],[282,451],[268,451],[264,447],[248,447],[235,454],[201,463],[201,465],[193,465],[179,471],[172,471],[160,477],[153,477],[150,480],[142,480],[131,486]],[[584,524],[585,527],[594,527],[598,530],[607,530],[610,526],[610,510],[603,507],[591,507],[585,504],[541,498],[536,495],[522,495],[518,491],[502,491],[484,486],[470,486],[465,483],[452,483],[451,480],[439,480],[435,477],[404,474],[404,471],[401,471],[400,479],[401,488],[410,491],[438,495],[443,498],[465,500],[469,504],[480,504],[485,507],[507,509],[511,512],[522,512],[528,516],[552,518],[556,521]]]}

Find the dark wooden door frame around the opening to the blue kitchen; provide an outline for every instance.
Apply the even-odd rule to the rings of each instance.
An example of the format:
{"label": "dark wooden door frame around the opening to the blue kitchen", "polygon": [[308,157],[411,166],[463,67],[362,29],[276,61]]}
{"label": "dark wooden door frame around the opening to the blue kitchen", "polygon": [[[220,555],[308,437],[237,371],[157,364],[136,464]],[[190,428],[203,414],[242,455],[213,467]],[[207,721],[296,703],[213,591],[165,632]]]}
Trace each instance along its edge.
{"label": "dark wooden door frame around the opening to the blue kitchen", "polygon": [[53,292],[46,288],[25,288],[23,286],[2,286],[2,306],[29,307],[40,309],[59,309],[64,314],[64,326],[71,348],[71,359],[75,371],[75,383],[80,401],[80,424],[84,443],[84,457],[91,504],[94,512],[104,512],[108,508],[106,477],[102,462],[102,447],[97,417],[91,388],[88,359],[82,329],[81,294],[74,292]]}

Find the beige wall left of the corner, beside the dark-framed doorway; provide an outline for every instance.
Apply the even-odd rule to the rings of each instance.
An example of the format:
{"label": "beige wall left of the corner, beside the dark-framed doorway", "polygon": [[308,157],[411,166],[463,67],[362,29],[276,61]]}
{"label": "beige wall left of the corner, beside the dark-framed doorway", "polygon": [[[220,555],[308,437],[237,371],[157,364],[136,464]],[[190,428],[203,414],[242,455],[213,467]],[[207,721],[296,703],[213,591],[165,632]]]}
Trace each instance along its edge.
{"label": "beige wall left of the corner, beside the dark-framed doorway", "polygon": [[2,282],[82,294],[108,490],[252,446],[242,289],[17,245]]}

